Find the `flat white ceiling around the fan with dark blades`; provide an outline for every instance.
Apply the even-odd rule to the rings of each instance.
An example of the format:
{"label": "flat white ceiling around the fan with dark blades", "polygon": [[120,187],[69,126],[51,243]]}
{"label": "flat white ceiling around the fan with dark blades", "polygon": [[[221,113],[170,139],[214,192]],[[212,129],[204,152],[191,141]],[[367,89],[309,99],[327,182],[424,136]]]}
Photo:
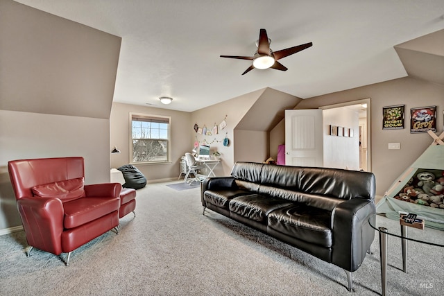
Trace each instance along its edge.
{"label": "flat white ceiling around the fan with dark blades", "polygon": [[[18,0],[122,37],[114,102],[191,112],[271,87],[310,98],[407,76],[393,46],[444,28],[443,0]],[[253,69],[259,28],[271,49],[313,42]],[[161,105],[160,96],[174,98]]]}

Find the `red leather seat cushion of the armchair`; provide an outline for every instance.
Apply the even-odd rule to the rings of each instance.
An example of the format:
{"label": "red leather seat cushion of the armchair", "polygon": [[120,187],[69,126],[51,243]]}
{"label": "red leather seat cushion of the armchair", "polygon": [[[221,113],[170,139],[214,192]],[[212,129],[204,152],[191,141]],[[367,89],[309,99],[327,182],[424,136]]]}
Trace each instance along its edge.
{"label": "red leather seat cushion of the armchair", "polygon": [[65,229],[78,227],[96,220],[120,207],[120,198],[79,198],[63,204],[65,211],[63,227]]}

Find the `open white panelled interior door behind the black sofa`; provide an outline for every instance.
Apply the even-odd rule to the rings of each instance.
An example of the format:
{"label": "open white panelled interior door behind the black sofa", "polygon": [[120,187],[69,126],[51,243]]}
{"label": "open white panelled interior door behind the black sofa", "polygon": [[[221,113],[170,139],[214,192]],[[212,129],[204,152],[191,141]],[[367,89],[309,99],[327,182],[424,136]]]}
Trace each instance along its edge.
{"label": "open white panelled interior door behind the black sofa", "polygon": [[285,110],[285,164],[323,166],[322,110]]}

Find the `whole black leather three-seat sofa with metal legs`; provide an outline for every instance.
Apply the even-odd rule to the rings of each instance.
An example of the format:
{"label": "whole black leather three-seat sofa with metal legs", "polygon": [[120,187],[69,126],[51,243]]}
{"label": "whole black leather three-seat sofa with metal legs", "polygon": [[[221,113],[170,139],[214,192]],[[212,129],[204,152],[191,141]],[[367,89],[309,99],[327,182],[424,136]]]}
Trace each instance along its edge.
{"label": "whole black leather three-seat sofa with metal legs", "polygon": [[211,209],[352,273],[375,238],[373,173],[237,162],[229,177],[202,183]]}

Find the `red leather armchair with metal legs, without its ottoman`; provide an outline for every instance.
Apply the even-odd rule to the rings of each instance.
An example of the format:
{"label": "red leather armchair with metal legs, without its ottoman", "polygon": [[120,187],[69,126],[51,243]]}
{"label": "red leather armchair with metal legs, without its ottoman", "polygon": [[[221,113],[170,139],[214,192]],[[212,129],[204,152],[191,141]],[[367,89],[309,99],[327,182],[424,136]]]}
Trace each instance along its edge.
{"label": "red leather armchair with metal legs, without its ottoman", "polygon": [[[85,185],[83,157],[8,162],[30,248],[60,255],[119,226],[121,184]],[[117,230],[118,231],[118,230]]]}

